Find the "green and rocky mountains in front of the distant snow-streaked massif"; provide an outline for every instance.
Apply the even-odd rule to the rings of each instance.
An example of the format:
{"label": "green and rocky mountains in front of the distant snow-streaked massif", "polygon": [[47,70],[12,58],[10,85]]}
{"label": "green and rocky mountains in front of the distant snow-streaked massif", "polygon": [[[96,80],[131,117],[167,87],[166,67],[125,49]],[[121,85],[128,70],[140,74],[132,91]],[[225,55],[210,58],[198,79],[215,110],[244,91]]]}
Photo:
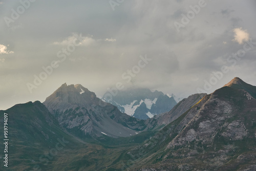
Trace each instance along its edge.
{"label": "green and rocky mountains in front of the distant snow-streaked massif", "polygon": [[[163,95],[151,93],[159,94],[157,100]],[[154,101],[156,96],[146,98]],[[129,104],[137,97],[118,98],[118,104]],[[43,103],[0,111],[1,124],[8,114],[10,139],[9,167],[0,168],[256,170],[256,87],[240,78],[146,120],[123,112],[80,84],[66,83]]]}

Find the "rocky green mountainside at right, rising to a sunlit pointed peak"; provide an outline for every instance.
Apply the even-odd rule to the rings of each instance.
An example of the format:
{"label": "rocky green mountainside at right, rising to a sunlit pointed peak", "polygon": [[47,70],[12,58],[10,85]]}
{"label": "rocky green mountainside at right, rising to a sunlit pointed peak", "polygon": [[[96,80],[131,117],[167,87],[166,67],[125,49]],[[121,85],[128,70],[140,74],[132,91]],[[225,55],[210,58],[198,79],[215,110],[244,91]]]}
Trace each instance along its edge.
{"label": "rocky green mountainside at right, rising to a sunlit pointed peak", "polygon": [[[147,152],[138,163],[150,166],[142,169],[137,165],[132,170],[255,168],[255,91],[256,87],[234,78],[223,88],[205,96],[165,126],[153,137],[154,141],[135,149]],[[130,153],[136,155],[135,151]]]}

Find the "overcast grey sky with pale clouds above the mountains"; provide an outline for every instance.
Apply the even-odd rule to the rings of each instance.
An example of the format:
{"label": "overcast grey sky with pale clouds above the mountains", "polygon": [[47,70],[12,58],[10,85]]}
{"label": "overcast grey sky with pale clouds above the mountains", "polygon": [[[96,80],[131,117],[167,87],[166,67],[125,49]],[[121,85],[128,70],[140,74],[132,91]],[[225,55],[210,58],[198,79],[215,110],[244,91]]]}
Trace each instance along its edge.
{"label": "overcast grey sky with pale clouds above the mountains", "polygon": [[0,0],[1,110],[65,82],[97,96],[117,82],[179,97],[233,77],[256,85],[254,0],[33,1]]}

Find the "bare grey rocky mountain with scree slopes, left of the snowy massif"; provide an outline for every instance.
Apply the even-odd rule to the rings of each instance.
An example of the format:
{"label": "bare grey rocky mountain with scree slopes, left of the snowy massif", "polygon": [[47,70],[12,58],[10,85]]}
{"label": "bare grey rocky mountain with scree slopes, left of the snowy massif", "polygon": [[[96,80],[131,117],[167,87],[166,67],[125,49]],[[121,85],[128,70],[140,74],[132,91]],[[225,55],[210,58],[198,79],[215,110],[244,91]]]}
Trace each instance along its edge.
{"label": "bare grey rocky mountain with scree slopes, left of the snowy massif", "polygon": [[63,128],[78,137],[127,137],[145,128],[143,121],[121,113],[80,84],[62,84],[44,104]]}

